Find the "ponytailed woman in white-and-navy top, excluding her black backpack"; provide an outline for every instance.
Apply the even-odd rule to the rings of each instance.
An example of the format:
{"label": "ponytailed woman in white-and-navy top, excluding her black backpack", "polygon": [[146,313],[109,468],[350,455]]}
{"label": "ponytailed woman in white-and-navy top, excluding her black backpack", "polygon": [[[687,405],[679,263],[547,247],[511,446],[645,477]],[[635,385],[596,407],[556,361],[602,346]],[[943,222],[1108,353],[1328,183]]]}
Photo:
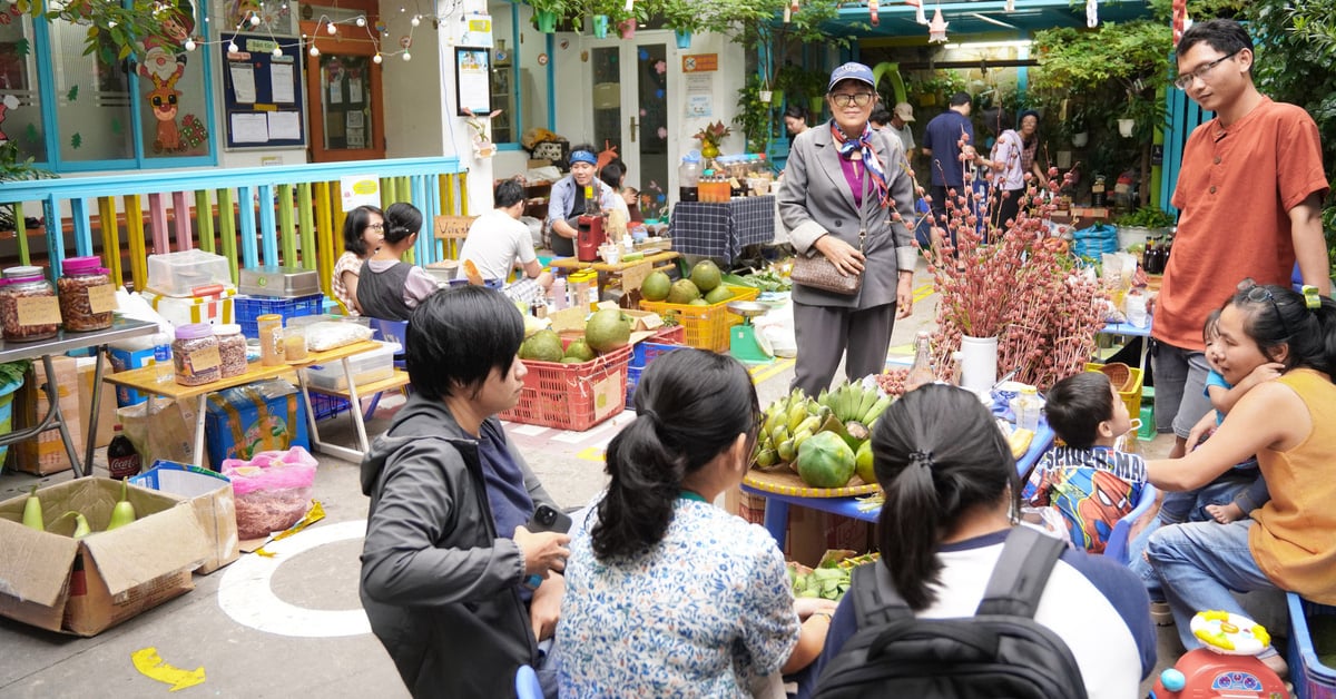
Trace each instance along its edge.
{"label": "ponytailed woman in white-and-navy top, excluding her black backpack", "polygon": [[[886,504],[876,544],[886,577],[921,617],[973,616],[1015,525],[1019,478],[1002,432],[967,390],[906,393],[872,429],[872,462]],[[835,611],[811,676],[858,632],[854,591]],[[1125,567],[1067,549],[1034,615],[1071,650],[1090,699],[1134,696],[1154,670],[1150,600]],[[802,687],[799,696],[808,695]]]}

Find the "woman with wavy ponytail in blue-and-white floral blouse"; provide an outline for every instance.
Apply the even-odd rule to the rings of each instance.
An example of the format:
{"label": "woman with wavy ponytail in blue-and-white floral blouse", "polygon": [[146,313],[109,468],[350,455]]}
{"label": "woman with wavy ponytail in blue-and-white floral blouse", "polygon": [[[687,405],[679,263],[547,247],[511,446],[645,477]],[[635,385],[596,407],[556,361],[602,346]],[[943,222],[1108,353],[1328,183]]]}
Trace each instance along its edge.
{"label": "woman with wavy ponytail in blue-and-white floral blouse", "polygon": [[741,482],[759,414],[728,356],[681,349],[645,370],[608,492],[572,532],[562,696],[770,696],[820,652],[834,604],[795,604],[775,540],[711,505]]}

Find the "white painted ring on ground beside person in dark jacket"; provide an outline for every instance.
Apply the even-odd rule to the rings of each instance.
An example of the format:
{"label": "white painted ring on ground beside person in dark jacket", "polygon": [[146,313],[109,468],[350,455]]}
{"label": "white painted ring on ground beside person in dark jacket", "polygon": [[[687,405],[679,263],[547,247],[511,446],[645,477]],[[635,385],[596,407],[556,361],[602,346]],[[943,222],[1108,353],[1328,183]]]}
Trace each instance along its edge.
{"label": "white painted ring on ground beside person in dark jacket", "polygon": [[279,636],[323,639],[370,634],[371,621],[361,608],[307,609],[278,599],[270,585],[278,567],[298,553],[365,536],[366,520],[354,520],[306,529],[267,544],[265,549],[274,556],[247,555],[227,567],[218,585],[218,605],[238,624]]}

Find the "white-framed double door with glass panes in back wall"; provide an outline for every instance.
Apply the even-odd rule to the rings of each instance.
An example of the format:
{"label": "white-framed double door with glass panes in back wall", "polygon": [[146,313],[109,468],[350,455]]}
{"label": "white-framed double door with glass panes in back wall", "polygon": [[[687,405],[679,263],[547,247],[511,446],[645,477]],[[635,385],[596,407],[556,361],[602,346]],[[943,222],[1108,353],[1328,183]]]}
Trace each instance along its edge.
{"label": "white-framed double door with glass panes in back wall", "polygon": [[616,147],[627,164],[628,187],[640,190],[640,213],[667,222],[669,194],[668,64],[669,32],[645,39],[592,40],[592,134],[596,150]]}

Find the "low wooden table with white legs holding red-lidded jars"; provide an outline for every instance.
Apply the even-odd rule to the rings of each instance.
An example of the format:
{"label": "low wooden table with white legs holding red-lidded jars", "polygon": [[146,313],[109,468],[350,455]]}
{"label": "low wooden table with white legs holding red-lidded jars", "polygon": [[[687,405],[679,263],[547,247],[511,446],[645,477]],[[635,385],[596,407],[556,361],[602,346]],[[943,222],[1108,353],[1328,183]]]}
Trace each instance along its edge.
{"label": "low wooden table with white legs holding red-lidded jars", "polygon": [[[203,465],[204,458],[204,416],[207,414],[207,400],[208,394],[219,392],[223,389],[230,389],[234,386],[243,386],[246,384],[253,384],[255,381],[265,381],[267,378],[281,378],[291,376],[293,372],[303,369],[317,364],[331,364],[342,362],[343,376],[347,380],[347,397],[351,405],[361,405],[361,398],[358,397],[357,382],[353,380],[353,369],[347,362],[347,358],[354,354],[361,354],[363,352],[371,352],[379,349],[379,343],[371,339],[363,339],[361,342],[354,342],[351,345],[345,345],[342,347],[335,347],[325,352],[311,352],[307,354],[306,360],[302,362],[291,362],[278,366],[265,366],[261,362],[250,362],[246,368],[246,373],[230,378],[222,378],[210,384],[203,384],[199,386],[182,386],[175,381],[168,381],[159,384],[158,372],[155,368],[148,366],[144,369],[132,369],[130,372],[122,372],[119,374],[111,374],[106,377],[107,382],[115,384],[118,386],[126,386],[135,389],[140,393],[150,393],[155,396],[162,396],[164,398],[172,398],[178,401],[188,401],[191,398],[198,398],[198,406],[195,409],[195,448],[192,453],[192,462],[195,465]],[[366,424],[362,420],[362,412],[358,409],[349,410],[353,414],[353,424],[357,425],[357,445],[359,449],[349,449],[337,444],[327,444],[321,441],[319,426],[315,421],[315,412],[311,410],[311,394],[306,386],[305,372],[297,372],[297,384],[302,390],[302,401],[306,404],[306,420],[311,429],[311,448],[313,450],[337,456],[339,458],[359,462],[362,456],[367,450],[366,440]]]}

